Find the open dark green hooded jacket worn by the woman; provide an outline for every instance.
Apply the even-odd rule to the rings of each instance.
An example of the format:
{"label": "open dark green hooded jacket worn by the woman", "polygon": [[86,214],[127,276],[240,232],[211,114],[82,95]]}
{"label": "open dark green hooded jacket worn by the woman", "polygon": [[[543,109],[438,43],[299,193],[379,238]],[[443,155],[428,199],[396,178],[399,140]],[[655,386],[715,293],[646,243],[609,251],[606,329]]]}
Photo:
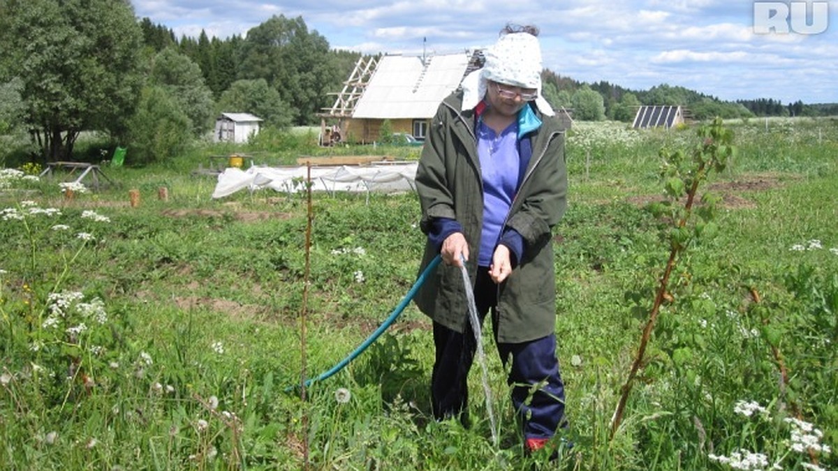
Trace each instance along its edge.
{"label": "open dark green hooded jacket worn by the woman", "polygon": [[[461,111],[462,92],[448,96],[437,109],[416,171],[422,204],[422,231],[434,218],[458,220],[468,241],[468,274],[477,270],[483,225],[483,183],[474,131],[474,111]],[[498,287],[498,341],[520,343],[540,339],[556,329],[556,274],[551,229],[566,209],[567,171],[564,132],[558,120],[539,111],[541,127],[528,136],[532,158],[512,202],[506,226],[524,237],[521,260]],[[422,266],[437,256],[427,242]],[[448,329],[463,332],[468,301],[458,267],[440,264],[416,293],[416,305]]]}

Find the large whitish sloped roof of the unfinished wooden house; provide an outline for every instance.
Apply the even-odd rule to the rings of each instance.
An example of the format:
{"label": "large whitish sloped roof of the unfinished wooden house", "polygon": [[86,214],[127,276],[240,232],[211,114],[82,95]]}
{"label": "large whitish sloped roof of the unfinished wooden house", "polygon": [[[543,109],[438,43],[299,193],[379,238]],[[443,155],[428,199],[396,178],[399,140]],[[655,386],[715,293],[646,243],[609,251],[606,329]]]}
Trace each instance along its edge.
{"label": "large whitish sloped roof of the unfinished wooden house", "polygon": [[463,80],[471,53],[421,57],[385,55],[380,59],[353,117],[432,118],[443,98]]}

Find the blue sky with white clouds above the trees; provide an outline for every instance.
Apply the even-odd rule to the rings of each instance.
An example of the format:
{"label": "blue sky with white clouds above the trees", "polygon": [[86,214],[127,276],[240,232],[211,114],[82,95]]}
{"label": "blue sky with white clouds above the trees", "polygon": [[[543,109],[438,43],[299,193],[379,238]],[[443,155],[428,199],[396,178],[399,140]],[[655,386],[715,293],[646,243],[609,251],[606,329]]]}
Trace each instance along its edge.
{"label": "blue sky with white clouds above the trees", "polygon": [[722,100],[838,102],[838,0],[132,0],[137,18],[225,39],[302,17],[333,49],[452,54],[506,23],[541,29],[544,67],[630,90],[680,85]]}

